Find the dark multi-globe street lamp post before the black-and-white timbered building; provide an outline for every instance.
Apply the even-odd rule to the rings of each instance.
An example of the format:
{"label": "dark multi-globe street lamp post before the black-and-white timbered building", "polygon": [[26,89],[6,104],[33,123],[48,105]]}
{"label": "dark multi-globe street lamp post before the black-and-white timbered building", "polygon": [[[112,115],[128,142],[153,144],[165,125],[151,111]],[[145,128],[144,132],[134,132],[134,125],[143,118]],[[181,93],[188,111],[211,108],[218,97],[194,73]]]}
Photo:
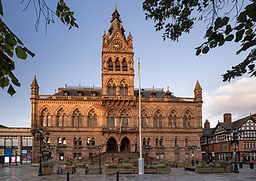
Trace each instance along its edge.
{"label": "dark multi-globe street lamp post before the black-and-white timbered building", "polygon": [[240,130],[237,131],[237,128],[232,129],[233,135],[231,136],[230,132],[226,132],[226,136],[228,138],[228,141],[230,140],[230,144],[235,143],[235,166],[234,166],[234,171],[233,173],[239,173],[238,167],[237,167],[237,144],[239,144],[239,136],[243,135],[244,131]]}

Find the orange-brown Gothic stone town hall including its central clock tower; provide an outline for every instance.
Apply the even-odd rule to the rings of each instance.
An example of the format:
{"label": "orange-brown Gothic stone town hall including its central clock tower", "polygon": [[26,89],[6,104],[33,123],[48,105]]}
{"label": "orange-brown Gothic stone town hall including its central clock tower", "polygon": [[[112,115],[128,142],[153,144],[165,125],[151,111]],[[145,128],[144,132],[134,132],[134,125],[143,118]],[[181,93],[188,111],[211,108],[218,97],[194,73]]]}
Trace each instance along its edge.
{"label": "orange-brown Gothic stone town hall including its central clock tower", "polygon": [[[111,26],[102,36],[102,88],[65,86],[54,95],[39,95],[34,78],[30,98],[31,129],[35,135],[42,127],[50,133],[49,143],[58,144],[53,151],[54,162],[62,162],[62,156],[64,160],[97,161],[99,151],[95,145],[104,146],[102,162],[138,158],[139,93],[134,88],[132,40],[131,33],[125,37],[115,9]],[[191,162],[192,151],[186,148],[197,145],[194,159],[201,161],[203,101],[199,82],[191,98],[176,97],[169,88],[167,91],[142,89],[140,97],[143,145],[151,146],[147,150],[150,160]],[[38,152],[39,143],[35,139],[35,159]],[[131,153],[134,156],[127,156]],[[143,157],[145,153],[143,149]]]}

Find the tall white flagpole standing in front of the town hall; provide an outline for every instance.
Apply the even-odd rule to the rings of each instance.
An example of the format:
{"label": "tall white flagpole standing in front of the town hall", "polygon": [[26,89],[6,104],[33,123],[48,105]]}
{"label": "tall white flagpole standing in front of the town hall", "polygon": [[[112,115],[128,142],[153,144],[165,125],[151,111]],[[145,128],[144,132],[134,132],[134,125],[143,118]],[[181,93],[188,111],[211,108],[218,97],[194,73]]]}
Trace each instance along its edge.
{"label": "tall white flagpole standing in front of the town hall", "polygon": [[138,114],[139,114],[139,125],[140,125],[140,158],[138,159],[138,174],[144,174],[144,160],[143,160],[143,146],[141,137],[141,114],[140,114],[140,58],[138,58]]}

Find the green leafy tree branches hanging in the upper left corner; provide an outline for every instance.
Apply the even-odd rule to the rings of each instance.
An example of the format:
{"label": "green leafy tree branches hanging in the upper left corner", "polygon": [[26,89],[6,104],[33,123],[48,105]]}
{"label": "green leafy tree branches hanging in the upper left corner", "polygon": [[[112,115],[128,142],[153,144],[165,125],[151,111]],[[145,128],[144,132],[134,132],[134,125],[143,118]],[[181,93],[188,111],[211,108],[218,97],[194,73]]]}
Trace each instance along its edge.
{"label": "green leafy tree branches hanging in the upper left corner", "polygon": [[[68,30],[70,30],[73,26],[79,28],[77,23],[75,23],[75,17],[73,17],[74,12],[70,11],[70,8],[66,6],[64,0],[60,0],[57,2],[56,11],[53,12],[50,8],[48,8],[46,2],[44,0],[29,0],[26,8],[33,2],[35,6],[35,11],[37,14],[37,22],[35,23],[35,29],[37,30],[40,22],[41,16],[44,17],[47,25],[50,23],[54,23],[53,17],[57,15],[60,18],[62,23],[69,26]],[[21,1],[24,3],[24,0]],[[25,8],[25,10],[26,10]],[[3,17],[3,5],[0,0],[0,15]],[[7,86],[7,92],[12,96],[16,93],[12,84],[15,86],[20,86],[19,80],[12,73],[15,70],[15,62],[12,61],[12,57],[15,55],[19,59],[26,59],[28,55],[34,57],[35,54],[32,53],[28,48],[24,46],[21,40],[8,28],[6,23],[0,17],[0,87],[5,88]],[[10,83],[10,80],[12,84]]]}

